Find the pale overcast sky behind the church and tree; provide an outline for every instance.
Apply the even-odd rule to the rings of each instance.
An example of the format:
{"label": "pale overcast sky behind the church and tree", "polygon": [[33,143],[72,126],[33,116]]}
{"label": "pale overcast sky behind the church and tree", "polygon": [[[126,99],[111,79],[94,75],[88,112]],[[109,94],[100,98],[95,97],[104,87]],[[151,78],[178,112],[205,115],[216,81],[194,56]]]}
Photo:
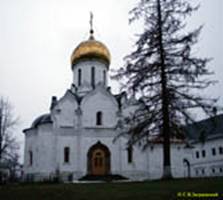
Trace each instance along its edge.
{"label": "pale overcast sky behind the church and tree", "polygon": [[[194,2],[195,0],[191,1]],[[128,11],[137,0],[0,0],[0,95],[8,97],[20,116],[18,137],[40,114],[49,112],[52,95],[70,88],[70,55],[88,38],[89,12],[94,13],[96,39],[109,48],[111,69],[122,66],[140,27],[129,26]],[[200,0],[190,27],[204,24],[196,52],[212,57],[209,64],[219,83],[205,94],[219,96],[223,106],[223,3]],[[111,82],[110,82],[111,83]],[[113,91],[118,92],[117,84]]]}

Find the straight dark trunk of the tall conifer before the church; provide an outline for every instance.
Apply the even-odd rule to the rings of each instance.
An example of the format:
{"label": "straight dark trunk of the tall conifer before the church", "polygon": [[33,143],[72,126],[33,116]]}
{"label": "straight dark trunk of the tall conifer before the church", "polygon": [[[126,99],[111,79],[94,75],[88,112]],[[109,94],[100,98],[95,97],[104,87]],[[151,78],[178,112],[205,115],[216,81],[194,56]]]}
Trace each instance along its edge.
{"label": "straight dark trunk of the tall conifer before the church", "polygon": [[162,36],[162,13],[160,0],[157,0],[158,25],[159,25],[159,54],[161,61],[161,98],[162,98],[162,115],[163,115],[163,179],[171,179],[171,158],[170,158],[170,123],[169,123],[169,97],[167,91],[166,66],[163,49]]}

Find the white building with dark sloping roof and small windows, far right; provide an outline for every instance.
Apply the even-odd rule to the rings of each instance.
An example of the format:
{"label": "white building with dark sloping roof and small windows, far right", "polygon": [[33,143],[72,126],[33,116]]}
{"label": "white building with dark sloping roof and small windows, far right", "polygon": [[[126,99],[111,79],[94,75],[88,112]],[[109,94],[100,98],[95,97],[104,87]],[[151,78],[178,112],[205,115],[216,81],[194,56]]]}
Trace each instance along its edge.
{"label": "white building with dark sloping roof and small windows, far right", "polygon": [[223,176],[223,114],[187,127],[191,176]]}

